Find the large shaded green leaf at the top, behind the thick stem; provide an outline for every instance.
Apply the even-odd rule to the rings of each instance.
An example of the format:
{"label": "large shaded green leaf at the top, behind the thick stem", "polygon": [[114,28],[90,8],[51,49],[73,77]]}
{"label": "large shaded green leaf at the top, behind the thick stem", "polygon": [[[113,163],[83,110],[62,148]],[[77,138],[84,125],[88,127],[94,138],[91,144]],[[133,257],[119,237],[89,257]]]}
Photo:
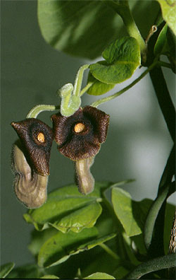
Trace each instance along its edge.
{"label": "large shaded green leaf at the top, behind the thick stem", "polygon": [[[146,37],[159,5],[151,0],[130,0],[130,8]],[[38,20],[52,47],[89,59],[100,56],[112,40],[127,34],[120,16],[103,1],[38,0]]]}

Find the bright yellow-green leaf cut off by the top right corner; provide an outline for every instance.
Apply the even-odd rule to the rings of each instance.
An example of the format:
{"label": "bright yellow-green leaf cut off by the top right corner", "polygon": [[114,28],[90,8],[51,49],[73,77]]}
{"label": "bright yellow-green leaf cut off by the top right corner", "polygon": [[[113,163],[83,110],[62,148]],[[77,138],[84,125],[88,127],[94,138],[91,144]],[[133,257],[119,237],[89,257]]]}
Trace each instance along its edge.
{"label": "bright yellow-green leaf cut off by the top right corner", "polygon": [[161,5],[163,18],[176,35],[176,4],[175,0],[157,0]]}

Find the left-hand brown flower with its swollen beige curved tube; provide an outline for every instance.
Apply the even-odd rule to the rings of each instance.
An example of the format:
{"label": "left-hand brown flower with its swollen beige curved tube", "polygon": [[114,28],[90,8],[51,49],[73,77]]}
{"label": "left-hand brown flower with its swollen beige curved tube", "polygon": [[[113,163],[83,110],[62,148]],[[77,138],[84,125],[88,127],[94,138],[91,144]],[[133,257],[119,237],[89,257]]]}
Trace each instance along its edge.
{"label": "left-hand brown flower with its swollen beige curved tube", "polygon": [[47,198],[53,132],[39,119],[25,119],[11,125],[20,138],[13,145],[12,152],[14,191],[27,208],[38,208]]}

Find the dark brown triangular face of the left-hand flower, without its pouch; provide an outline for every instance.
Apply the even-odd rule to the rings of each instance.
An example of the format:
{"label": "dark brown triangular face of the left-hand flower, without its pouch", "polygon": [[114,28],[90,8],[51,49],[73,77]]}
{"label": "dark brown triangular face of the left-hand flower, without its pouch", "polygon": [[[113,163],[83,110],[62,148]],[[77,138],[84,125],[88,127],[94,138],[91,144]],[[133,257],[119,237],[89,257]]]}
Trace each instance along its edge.
{"label": "dark brown triangular face of the left-hand flower, without its pouch", "polygon": [[52,129],[39,119],[12,122],[12,127],[25,146],[30,165],[40,175],[49,175],[49,158],[53,141]]}

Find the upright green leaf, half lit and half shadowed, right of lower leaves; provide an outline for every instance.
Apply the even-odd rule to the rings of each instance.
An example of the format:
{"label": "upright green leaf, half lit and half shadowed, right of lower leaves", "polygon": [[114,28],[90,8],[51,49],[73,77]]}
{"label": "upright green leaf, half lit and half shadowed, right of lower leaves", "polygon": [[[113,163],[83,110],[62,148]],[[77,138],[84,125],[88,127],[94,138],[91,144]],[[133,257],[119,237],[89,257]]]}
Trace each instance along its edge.
{"label": "upright green leaf, half lit and half shadowed, right of lower leaves", "polygon": [[142,233],[144,221],[152,201],[144,199],[142,202],[134,202],[128,192],[114,187],[112,189],[112,203],[116,216],[128,236]]}

